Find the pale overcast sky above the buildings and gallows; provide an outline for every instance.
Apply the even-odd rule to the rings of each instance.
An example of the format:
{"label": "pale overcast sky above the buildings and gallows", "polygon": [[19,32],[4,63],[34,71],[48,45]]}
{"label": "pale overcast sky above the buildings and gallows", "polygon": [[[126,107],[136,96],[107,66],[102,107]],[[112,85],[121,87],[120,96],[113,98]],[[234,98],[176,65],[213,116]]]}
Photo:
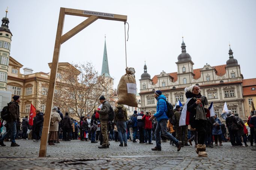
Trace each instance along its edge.
{"label": "pale overcast sky above the buildings and gallows", "polygon": [[[182,35],[194,69],[206,63],[226,64],[230,42],[244,78],[256,77],[256,0],[5,0],[1,1],[1,18],[7,6],[13,34],[11,56],[34,72],[50,71],[59,10],[66,7],[128,16],[127,65],[136,70],[138,89],[145,60],[151,78],[162,70],[177,71]],[[66,15],[63,34],[84,19]],[[125,74],[123,22],[93,22],[62,44],[59,62],[90,61],[101,73],[105,34],[116,88]]]}

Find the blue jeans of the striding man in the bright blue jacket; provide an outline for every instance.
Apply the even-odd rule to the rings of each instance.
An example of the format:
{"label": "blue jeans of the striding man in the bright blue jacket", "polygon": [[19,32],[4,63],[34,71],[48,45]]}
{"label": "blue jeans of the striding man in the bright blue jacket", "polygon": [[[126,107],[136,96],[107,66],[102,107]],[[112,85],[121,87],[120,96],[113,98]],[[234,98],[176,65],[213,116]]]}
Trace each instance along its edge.
{"label": "blue jeans of the striding man in the bright blue jacket", "polygon": [[179,140],[167,132],[167,120],[162,119],[157,122],[157,127],[155,128],[155,142],[157,143],[157,148],[161,148],[161,131],[164,136],[173,141],[176,145],[179,143]]}

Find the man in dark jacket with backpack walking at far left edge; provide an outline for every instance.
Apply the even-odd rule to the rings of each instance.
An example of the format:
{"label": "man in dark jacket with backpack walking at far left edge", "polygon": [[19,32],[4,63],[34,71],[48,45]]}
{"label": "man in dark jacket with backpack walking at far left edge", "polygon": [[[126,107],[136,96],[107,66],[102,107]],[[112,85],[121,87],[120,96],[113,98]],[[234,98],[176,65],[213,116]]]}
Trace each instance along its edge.
{"label": "man in dark jacket with backpack walking at far left edge", "polygon": [[19,108],[19,103],[21,101],[20,96],[13,96],[14,99],[13,102],[8,103],[8,112],[9,112],[9,117],[7,118],[7,124],[9,126],[8,132],[5,133],[5,135],[0,139],[0,145],[1,146],[6,146],[3,143],[3,140],[8,137],[11,134],[11,146],[20,146],[15,142],[15,135],[17,132],[16,129],[16,124],[20,122],[20,108]]}

